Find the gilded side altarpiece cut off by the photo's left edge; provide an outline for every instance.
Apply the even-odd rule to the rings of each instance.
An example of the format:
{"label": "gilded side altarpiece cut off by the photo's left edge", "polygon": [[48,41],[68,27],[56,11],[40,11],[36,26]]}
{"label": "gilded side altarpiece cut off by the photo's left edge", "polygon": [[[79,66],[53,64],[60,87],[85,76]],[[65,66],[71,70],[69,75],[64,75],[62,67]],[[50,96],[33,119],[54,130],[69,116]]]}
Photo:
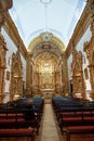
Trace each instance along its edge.
{"label": "gilded side altarpiece cut off by the photo's left edge", "polygon": [[6,43],[4,42],[4,38],[0,34],[0,98],[4,97],[4,69],[6,68]]}

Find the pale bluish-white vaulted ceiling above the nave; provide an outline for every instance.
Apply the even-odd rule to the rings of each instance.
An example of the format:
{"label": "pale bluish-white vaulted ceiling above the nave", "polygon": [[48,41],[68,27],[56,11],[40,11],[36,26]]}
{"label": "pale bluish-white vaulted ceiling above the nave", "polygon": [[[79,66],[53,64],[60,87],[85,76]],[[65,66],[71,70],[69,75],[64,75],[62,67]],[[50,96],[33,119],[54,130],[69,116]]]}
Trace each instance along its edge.
{"label": "pale bluish-white vaulted ceiling above the nave", "polygon": [[14,0],[10,14],[26,48],[42,33],[52,33],[67,47],[85,3],[86,0]]}

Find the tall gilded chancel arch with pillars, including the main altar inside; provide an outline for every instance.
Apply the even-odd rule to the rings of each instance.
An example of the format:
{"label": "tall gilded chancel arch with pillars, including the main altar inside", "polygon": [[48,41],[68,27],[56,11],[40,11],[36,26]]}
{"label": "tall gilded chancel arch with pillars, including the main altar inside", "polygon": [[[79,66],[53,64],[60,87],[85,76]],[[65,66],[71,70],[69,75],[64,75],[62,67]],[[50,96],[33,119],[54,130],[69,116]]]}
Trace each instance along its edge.
{"label": "tall gilded chancel arch with pillars, including the main altar inside", "polygon": [[[46,40],[48,35],[48,40]],[[27,67],[26,67],[26,95],[32,97],[35,94],[41,94],[41,90],[53,90],[53,93],[62,94],[63,89],[66,88],[65,93],[68,92],[68,74],[67,74],[67,61],[64,55],[65,46],[64,43],[56,38],[51,33],[42,33],[38,37],[36,37],[28,46],[28,54],[26,57]],[[46,56],[53,56],[54,64],[50,66],[50,62],[44,63],[42,60],[44,54],[45,61],[48,61]],[[52,60],[51,60],[52,61]],[[44,65],[40,65],[43,62]],[[41,67],[41,68],[40,68]],[[44,77],[43,73],[40,69],[52,70],[52,75],[45,73]],[[51,76],[51,77],[50,77]],[[43,78],[43,79],[42,79]],[[48,79],[50,80],[48,82]],[[65,88],[63,88],[66,86]],[[46,91],[48,92],[48,91]]]}

